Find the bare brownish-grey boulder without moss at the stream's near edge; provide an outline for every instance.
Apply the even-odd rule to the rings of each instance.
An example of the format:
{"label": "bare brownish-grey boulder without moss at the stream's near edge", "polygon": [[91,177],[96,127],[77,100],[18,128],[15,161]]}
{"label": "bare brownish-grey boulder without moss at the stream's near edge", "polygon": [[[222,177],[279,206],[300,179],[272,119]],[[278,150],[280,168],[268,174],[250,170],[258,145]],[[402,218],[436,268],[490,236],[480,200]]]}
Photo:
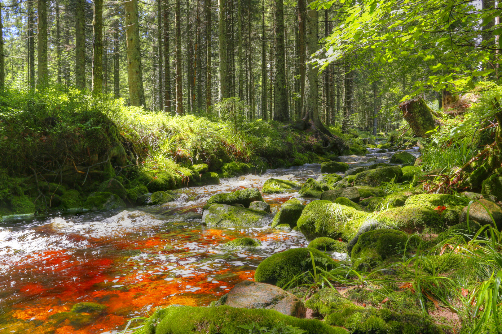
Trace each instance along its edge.
{"label": "bare brownish-grey boulder without moss at the stream's near edge", "polygon": [[228,291],[221,304],[239,308],[267,308],[274,309],[286,315],[296,317],[305,316],[303,302],[294,294],[284,291],[278,286],[242,281]]}

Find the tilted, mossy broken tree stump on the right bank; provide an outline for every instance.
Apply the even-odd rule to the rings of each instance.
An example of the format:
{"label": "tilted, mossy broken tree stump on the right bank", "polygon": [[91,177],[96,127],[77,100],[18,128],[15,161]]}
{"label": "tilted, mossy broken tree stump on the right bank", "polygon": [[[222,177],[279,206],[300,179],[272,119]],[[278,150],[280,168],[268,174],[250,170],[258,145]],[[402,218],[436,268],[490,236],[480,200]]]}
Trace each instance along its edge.
{"label": "tilted, mossy broken tree stump on the right bank", "polygon": [[434,113],[422,98],[401,103],[399,108],[403,118],[408,122],[417,137],[428,137],[428,131],[434,130],[441,124],[438,114]]}

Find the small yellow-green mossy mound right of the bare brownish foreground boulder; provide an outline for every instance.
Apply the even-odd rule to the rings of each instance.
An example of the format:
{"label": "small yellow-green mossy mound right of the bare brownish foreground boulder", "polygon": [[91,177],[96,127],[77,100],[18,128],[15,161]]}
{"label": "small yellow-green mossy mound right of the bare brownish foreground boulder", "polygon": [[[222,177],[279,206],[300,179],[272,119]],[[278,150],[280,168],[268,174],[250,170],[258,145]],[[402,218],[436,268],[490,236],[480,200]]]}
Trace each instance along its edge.
{"label": "small yellow-green mossy mound right of the bare brownish foreground boulder", "polygon": [[347,307],[354,307],[353,302],[343,297],[336,289],[330,287],[325,287],[314,293],[305,305],[322,317],[333,312],[341,312]]}

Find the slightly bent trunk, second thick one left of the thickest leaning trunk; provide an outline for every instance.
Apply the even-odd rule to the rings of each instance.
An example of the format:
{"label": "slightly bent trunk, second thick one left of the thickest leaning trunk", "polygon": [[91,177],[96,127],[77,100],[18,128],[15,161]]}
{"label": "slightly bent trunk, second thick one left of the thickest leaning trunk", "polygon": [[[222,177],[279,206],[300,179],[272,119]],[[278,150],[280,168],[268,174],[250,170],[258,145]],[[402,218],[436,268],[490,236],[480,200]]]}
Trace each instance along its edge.
{"label": "slightly bent trunk, second thick one left of the thickest leaning trunk", "polygon": [[103,88],[103,0],[94,0],[92,21],[92,86],[94,94]]}

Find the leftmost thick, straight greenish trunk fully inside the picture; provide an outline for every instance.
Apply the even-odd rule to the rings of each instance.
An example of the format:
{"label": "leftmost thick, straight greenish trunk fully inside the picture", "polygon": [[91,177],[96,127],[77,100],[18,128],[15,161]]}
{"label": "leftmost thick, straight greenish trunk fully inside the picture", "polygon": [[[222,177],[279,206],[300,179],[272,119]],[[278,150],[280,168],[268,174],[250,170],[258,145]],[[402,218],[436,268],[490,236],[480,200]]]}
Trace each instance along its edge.
{"label": "leftmost thick, straight greenish trunk fully inside the picture", "polygon": [[49,84],[49,69],[47,64],[47,0],[38,0],[38,86],[44,89]]}

